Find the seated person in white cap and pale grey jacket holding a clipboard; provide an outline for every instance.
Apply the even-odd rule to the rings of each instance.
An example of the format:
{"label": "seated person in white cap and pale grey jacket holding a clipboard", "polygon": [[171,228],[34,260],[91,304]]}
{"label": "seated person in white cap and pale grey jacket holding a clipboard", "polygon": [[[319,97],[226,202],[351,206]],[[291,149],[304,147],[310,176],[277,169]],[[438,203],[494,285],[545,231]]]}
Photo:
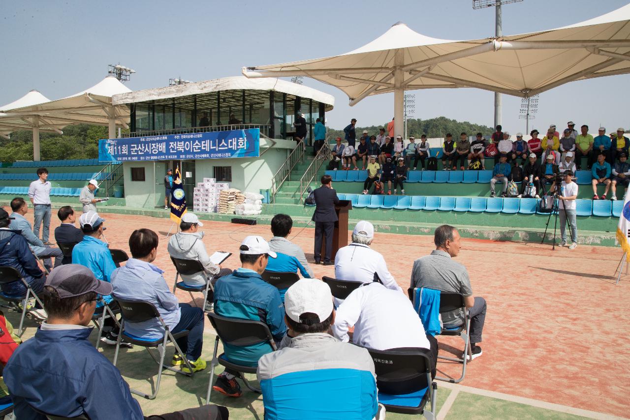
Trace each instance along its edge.
{"label": "seated person in white cap and pale grey jacket holding a clipboard", "polygon": [[[207,282],[214,286],[221,276],[226,276],[232,272],[231,269],[224,269],[221,265],[216,265],[210,260],[205,245],[203,245],[203,232],[199,231],[199,227],[203,223],[197,217],[197,214],[187,211],[181,216],[180,233],[171,236],[168,241],[168,254],[173,258],[182,260],[195,260],[203,265],[203,271],[195,274],[180,274],[181,280],[188,286],[205,286]],[[212,289],[208,291],[207,309],[212,310],[214,296]]]}

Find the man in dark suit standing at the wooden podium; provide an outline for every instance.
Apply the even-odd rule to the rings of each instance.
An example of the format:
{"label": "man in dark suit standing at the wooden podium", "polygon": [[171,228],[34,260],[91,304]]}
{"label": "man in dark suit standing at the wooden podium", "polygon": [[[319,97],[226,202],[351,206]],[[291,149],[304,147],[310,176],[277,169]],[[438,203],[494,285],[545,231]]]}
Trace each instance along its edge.
{"label": "man in dark suit standing at the wooden podium", "polygon": [[315,213],[312,221],[315,222],[315,264],[321,260],[322,235],[326,235],[326,255],[324,255],[324,265],[333,265],[331,261],[333,255],[333,230],[335,222],[338,221],[335,212],[335,204],[339,204],[337,193],[333,189],[333,178],[330,175],[321,177],[321,187],[313,191],[315,197]]}

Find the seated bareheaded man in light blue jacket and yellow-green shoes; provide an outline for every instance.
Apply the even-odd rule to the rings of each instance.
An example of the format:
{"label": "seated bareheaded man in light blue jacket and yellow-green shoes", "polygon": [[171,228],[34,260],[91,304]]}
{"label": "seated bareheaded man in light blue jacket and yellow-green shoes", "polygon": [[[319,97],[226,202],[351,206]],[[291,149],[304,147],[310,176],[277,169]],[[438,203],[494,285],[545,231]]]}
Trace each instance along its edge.
{"label": "seated bareheaded man in light blue jacket and yellow-green shoes", "polygon": [[[141,300],[152,303],[169,330],[176,332],[187,330],[188,335],[177,339],[181,351],[186,352],[193,371],[204,370],[203,348],[203,311],[193,308],[188,303],[179,303],[164,280],[164,271],[151,264],[157,257],[157,233],[149,229],[138,229],[129,236],[129,250],[132,258],[124,267],[112,273],[113,295],[117,299]],[[205,284],[205,283],[204,283]],[[125,323],[125,332],[142,339],[159,339],[164,336],[164,329],[157,318],[143,322]],[[173,356],[173,366],[190,373],[180,354]]]}

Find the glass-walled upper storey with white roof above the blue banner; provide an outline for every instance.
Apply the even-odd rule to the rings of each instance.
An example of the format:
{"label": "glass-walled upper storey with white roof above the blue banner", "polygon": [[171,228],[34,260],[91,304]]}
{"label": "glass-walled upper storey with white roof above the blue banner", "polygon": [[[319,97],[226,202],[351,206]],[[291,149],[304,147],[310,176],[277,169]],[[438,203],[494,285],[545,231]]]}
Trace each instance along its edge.
{"label": "glass-walled upper storey with white roof above the blue banner", "polygon": [[302,112],[307,144],[312,127],[333,108],[334,98],[280,79],[243,76],[165,88],[134,91],[113,98],[130,108],[130,133],[125,137],[219,131],[235,125],[260,127],[272,139],[292,139],[295,117]]}

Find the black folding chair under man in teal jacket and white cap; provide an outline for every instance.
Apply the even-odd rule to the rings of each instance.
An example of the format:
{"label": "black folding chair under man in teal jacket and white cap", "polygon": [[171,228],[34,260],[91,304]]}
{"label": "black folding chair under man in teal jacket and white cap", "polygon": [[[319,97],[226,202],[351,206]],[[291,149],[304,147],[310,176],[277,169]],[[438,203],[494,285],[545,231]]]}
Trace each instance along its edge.
{"label": "black folding chair under man in teal jacket and white cap", "polygon": [[214,378],[214,368],[217,365],[237,371],[239,378],[243,380],[245,386],[252,392],[258,392],[260,394],[261,390],[249,385],[245,375],[241,375],[241,373],[256,373],[258,366],[244,366],[232,363],[227,360],[225,353],[221,353],[217,357],[217,351],[219,351],[219,339],[223,342],[224,346],[228,344],[230,346],[239,347],[255,346],[256,344],[266,342],[270,346],[270,351],[276,351],[275,341],[273,340],[273,335],[268,325],[260,321],[222,317],[212,312],[209,312],[207,315],[210,324],[212,324],[212,327],[217,332],[217,339],[214,341],[214,353],[212,353],[212,362],[210,363],[210,382],[208,383],[208,393],[205,396],[205,403],[210,404],[212,379]]}

